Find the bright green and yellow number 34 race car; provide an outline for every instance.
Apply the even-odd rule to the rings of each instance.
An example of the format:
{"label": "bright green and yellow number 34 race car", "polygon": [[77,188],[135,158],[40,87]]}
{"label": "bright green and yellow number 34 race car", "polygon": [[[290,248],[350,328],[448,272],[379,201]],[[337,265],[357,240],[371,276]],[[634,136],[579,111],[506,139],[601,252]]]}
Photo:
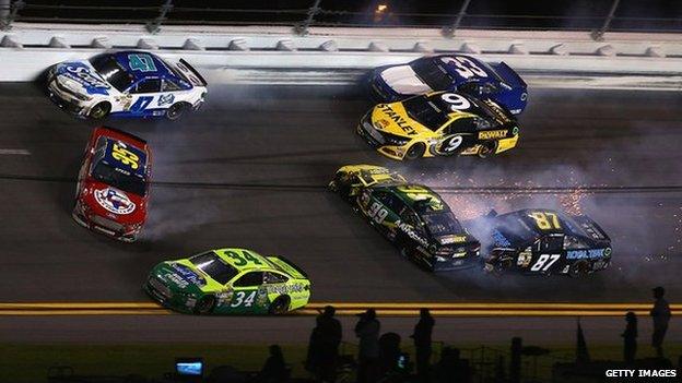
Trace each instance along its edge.
{"label": "bright green and yellow number 34 race car", "polygon": [[143,289],[164,307],[195,314],[283,314],[310,299],[310,280],[301,268],[247,249],[162,262]]}

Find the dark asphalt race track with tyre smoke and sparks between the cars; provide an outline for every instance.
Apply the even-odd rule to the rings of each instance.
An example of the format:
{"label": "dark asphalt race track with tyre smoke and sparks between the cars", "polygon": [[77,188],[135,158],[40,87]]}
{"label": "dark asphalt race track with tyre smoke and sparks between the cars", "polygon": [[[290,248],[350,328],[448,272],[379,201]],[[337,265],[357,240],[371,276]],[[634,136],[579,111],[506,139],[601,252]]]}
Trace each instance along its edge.
{"label": "dark asphalt race track with tyre smoke and sparks between the cars", "polygon": [[[148,301],[157,262],[205,249],[283,254],[321,301],[649,301],[682,294],[682,94],[538,89],[517,149],[399,164],[353,132],[368,108],[342,86],[213,86],[177,123],[109,120],[153,151],[150,219],[119,243],[70,217],[90,128],[33,84],[0,85],[0,301]],[[613,267],[583,279],[432,275],[325,190],[369,163],[440,191],[460,218],[525,206],[581,210],[613,240]]]}

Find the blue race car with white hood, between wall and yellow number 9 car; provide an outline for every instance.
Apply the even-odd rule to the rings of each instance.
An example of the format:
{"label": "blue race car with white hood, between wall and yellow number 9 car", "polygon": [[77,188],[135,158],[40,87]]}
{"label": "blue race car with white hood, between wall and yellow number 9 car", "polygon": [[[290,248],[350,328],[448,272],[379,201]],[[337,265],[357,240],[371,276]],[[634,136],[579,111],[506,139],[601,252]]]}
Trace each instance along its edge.
{"label": "blue race car with white hood, between wall and yellow number 9 car", "polygon": [[377,103],[448,91],[492,98],[514,115],[528,104],[528,87],[509,65],[489,64],[465,55],[427,56],[405,64],[379,67],[369,73],[367,85]]}

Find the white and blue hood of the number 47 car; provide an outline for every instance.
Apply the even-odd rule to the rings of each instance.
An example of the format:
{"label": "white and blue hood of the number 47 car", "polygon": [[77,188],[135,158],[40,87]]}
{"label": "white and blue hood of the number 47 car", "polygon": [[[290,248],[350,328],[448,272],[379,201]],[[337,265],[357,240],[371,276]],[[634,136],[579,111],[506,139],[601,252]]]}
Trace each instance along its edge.
{"label": "white and blue hood of the number 47 car", "polygon": [[79,94],[106,96],[114,89],[86,60],[57,64],[55,76],[62,86]]}

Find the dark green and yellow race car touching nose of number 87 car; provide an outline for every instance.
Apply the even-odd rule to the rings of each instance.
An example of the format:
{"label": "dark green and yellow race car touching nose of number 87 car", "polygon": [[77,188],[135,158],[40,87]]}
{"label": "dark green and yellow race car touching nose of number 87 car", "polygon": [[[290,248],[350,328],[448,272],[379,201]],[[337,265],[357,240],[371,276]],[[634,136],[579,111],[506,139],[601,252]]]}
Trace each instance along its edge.
{"label": "dark green and yellow race car touching nose of number 87 car", "polygon": [[329,189],[418,265],[442,272],[479,264],[481,244],[427,187],[379,166],[348,165],[337,170]]}

